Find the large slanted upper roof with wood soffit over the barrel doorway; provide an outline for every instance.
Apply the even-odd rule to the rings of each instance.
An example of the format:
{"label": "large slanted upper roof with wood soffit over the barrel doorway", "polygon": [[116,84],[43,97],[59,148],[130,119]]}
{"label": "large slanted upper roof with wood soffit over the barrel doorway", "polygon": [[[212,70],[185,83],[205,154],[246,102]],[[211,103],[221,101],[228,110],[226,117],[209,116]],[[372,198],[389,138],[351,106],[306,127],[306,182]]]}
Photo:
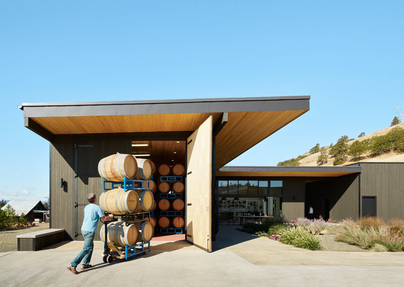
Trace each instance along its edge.
{"label": "large slanted upper roof with wood soffit over the barrel doorway", "polygon": [[[24,125],[53,141],[62,134],[192,132],[227,113],[216,135],[220,167],[309,110],[310,96],[23,103]],[[135,138],[133,140],[136,140]]]}

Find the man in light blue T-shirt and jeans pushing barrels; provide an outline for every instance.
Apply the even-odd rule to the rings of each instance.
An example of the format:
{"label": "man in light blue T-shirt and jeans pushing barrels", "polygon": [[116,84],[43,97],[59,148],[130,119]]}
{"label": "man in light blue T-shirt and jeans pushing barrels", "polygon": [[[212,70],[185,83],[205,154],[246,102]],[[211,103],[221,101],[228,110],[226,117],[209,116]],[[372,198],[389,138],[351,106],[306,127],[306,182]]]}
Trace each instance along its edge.
{"label": "man in light blue T-shirt and jeans pushing barrels", "polygon": [[94,247],[94,236],[97,231],[98,219],[101,218],[104,221],[111,220],[114,218],[113,214],[109,216],[105,216],[101,207],[96,205],[97,198],[95,197],[95,193],[87,194],[87,200],[90,204],[88,204],[84,208],[84,219],[83,225],[81,225],[81,234],[84,237],[84,247],[80,251],[80,253],[74,258],[74,260],[67,266],[67,269],[72,271],[74,274],[78,274],[76,267],[80,264],[81,260],[83,260],[83,265],[81,269],[90,268],[90,260],[92,255],[92,249]]}

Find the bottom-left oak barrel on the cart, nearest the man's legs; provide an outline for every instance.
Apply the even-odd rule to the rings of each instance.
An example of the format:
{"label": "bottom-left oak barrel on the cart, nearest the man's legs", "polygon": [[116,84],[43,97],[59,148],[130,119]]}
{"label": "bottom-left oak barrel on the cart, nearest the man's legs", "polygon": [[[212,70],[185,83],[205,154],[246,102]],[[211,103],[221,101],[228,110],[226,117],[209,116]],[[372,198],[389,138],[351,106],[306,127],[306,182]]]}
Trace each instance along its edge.
{"label": "bottom-left oak barrel on the cart, nearest the man's legs", "polygon": [[[105,242],[105,224],[101,226],[99,237]],[[139,237],[139,229],[135,224],[126,226],[123,221],[114,221],[107,225],[107,241],[119,247],[133,246]]]}

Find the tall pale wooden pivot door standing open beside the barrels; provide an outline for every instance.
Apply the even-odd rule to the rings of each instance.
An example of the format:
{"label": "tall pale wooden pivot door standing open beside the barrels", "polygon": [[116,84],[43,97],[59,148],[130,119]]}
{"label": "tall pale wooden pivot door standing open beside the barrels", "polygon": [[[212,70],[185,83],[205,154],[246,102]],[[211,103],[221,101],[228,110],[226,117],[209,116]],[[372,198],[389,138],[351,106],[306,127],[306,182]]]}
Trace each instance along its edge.
{"label": "tall pale wooden pivot door standing open beside the barrels", "polygon": [[212,251],[212,129],[210,116],[187,139],[186,240]]}

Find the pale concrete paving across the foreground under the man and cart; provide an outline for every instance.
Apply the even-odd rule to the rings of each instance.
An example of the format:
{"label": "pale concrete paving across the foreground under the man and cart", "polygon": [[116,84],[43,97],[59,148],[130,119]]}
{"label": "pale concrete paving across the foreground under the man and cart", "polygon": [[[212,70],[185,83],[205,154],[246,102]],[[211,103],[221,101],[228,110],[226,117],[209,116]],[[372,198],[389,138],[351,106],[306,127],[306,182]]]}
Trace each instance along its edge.
{"label": "pale concrete paving across the foreground under the man and cart", "polygon": [[404,280],[404,253],[308,251],[220,227],[212,253],[186,242],[152,242],[146,255],[108,264],[97,241],[93,267],[79,265],[78,275],[66,267],[83,241],[0,254],[0,285],[401,286]]}

